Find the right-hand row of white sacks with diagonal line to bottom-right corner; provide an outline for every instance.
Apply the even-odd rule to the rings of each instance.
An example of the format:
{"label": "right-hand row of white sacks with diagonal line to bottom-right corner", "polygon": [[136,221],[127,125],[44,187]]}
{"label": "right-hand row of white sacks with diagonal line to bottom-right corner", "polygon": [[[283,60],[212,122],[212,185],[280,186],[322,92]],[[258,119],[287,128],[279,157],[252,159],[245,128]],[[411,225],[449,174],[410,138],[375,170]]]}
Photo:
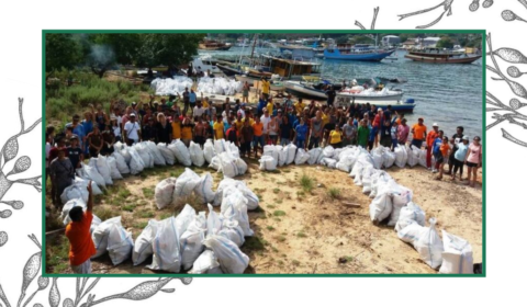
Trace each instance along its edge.
{"label": "right-hand row of white sacks with diagonal line to bottom-right corner", "polygon": [[295,164],[322,164],[349,172],[354,183],[373,198],[370,204],[370,218],[375,225],[388,221],[389,226],[394,226],[399,238],[412,243],[423,261],[433,269],[440,268],[439,273],[473,272],[470,243],[445,230],[441,240],[435,228],[435,218],[430,218],[429,227],[425,227],[425,213],[412,202],[413,192],[397,184],[382,170],[394,164],[399,168],[417,164],[426,167],[426,150],[397,146],[392,152],[389,148],[380,146],[368,152],[356,146],[339,149],[326,146],[305,151],[296,150],[291,144],[285,147],[267,145],[260,159],[260,170],[272,171],[293,161]]}

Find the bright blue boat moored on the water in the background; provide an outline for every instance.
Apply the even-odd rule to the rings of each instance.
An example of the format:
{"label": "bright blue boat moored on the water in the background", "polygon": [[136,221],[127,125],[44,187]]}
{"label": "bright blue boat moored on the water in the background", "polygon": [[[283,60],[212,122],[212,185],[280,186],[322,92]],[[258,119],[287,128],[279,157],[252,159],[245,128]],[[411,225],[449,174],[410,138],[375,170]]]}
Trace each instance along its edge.
{"label": "bright blue boat moored on the water in the background", "polygon": [[369,45],[339,45],[324,49],[324,58],[326,59],[346,59],[362,61],[381,61],[391,56],[395,49],[378,49]]}

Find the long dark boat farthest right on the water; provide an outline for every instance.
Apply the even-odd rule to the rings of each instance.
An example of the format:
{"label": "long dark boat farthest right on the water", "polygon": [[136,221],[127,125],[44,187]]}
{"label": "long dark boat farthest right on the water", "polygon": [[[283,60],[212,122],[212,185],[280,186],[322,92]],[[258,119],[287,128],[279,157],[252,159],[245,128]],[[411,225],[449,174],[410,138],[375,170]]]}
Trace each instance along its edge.
{"label": "long dark boat farthest right on the water", "polygon": [[480,59],[481,55],[459,54],[439,48],[426,48],[408,50],[408,54],[404,55],[404,57],[414,61],[433,64],[472,64]]}

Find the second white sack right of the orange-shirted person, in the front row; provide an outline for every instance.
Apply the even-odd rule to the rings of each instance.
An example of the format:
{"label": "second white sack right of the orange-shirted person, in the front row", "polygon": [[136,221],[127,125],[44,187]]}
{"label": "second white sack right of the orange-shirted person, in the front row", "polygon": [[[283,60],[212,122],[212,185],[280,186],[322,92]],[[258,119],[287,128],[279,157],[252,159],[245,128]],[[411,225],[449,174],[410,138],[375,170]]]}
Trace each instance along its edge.
{"label": "second white sack right of the orange-shirted person, in the front row", "polygon": [[134,249],[132,232],[126,231],[121,225],[113,224],[108,235],[106,249],[113,265],[124,262],[130,258]]}

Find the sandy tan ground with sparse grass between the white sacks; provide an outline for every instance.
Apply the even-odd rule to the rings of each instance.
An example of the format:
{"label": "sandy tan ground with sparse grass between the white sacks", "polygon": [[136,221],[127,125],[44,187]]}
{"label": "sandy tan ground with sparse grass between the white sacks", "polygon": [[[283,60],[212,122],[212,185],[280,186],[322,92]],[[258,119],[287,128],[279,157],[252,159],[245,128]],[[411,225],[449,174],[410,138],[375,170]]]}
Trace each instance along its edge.
{"label": "sandy tan ground with sparse grass between the white sacks", "polygon": [[[361,193],[348,173],[322,166],[289,166],[277,172],[262,172],[256,160],[249,160],[244,177],[248,186],[260,197],[260,208],[249,212],[255,236],[247,238],[242,250],[249,255],[246,273],[256,274],[360,274],[360,273],[436,273],[419,259],[411,245],[401,241],[393,227],[374,226],[369,218],[371,200]],[[181,166],[147,170],[139,177],[116,181],[106,195],[96,198],[96,215],[102,219],[122,215],[125,228],[134,239],[149,218],[162,219],[178,214],[179,208],[158,211],[154,201],[155,185],[168,177],[177,177]],[[210,171],[214,189],[223,175],[212,169],[194,168],[198,173]],[[473,249],[474,263],[482,261],[482,189],[469,187],[459,181],[434,180],[424,168],[399,169],[388,172],[399,184],[414,192],[414,202],[425,212],[427,219],[436,217],[437,229],[445,229],[467,239]],[[311,193],[302,190],[302,175],[314,180]],[[339,196],[329,196],[329,190]],[[359,205],[348,206],[345,203]],[[191,205],[206,211],[205,205]],[[216,208],[218,211],[218,208]],[[54,214],[46,229],[56,223]],[[58,235],[46,236],[46,259],[51,273],[71,273],[67,265],[67,239]],[[133,266],[128,260],[113,266],[106,255],[92,261],[93,273],[155,273],[142,265]]]}

